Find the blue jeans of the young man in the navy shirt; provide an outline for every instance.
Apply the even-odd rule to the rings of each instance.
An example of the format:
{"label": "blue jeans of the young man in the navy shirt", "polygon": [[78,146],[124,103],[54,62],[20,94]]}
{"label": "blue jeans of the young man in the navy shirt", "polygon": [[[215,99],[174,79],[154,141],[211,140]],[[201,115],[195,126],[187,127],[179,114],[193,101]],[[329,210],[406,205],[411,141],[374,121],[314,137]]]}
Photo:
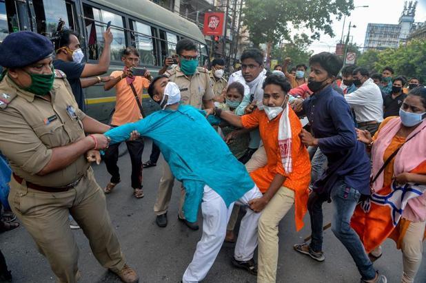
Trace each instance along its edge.
{"label": "blue jeans of the young man in the navy shirt", "polygon": [[[372,280],[376,277],[376,270],[365,253],[364,246],[352,229],[350,221],[361,193],[349,188],[345,182],[336,182],[330,192],[333,205],[332,231],[341,241],[349,254],[354,259],[363,280]],[[310,249],[322,251],[323,249],[323,202],[327,201],[327,194],[312,192],[307,202],[307,209],[311,218],[312,240]]]}

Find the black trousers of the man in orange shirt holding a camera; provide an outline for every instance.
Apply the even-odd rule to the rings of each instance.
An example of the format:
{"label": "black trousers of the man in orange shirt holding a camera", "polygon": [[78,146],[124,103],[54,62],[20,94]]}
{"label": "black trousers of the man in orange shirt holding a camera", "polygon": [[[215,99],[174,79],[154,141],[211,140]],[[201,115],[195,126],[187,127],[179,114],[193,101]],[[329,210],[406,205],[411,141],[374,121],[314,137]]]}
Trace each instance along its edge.
{"label": "black trousers of the man in orange shirt holding a camera", "polygon": [[[128,147],[130,161],[132,162],[132,188],[142,188],[142,153],[143,153],[143,138],[137,140],[126,141],[125,145]],[[105,150],[103,159],[107,167],[108,173],[111,174],[110,182],[120,182],[120,169],[117,166],[119,160],[119,146],[120,143],[110,145]]]}

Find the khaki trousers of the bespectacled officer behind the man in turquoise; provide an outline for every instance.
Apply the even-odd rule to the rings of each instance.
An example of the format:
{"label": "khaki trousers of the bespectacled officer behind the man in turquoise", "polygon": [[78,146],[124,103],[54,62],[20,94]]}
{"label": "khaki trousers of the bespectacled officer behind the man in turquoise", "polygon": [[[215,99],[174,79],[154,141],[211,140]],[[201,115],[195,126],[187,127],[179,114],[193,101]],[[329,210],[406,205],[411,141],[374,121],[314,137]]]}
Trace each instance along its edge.
{"label": "khaki trousers of the bespectacled officer behind the man in turquoise", "polygon": [[[160,179],[159,191],[157,192],[156,202],[154,205],[154,213],[161,216],[166,213],[169,208],[170,199],[172,198],[172,191],[174,185],[174,176],[170,170],[167,162],[163,162],[163,175]],[[179,217],[183,216],[182,207],[185,202],[185,188],[181,187],[181,199],[179,200]]]}

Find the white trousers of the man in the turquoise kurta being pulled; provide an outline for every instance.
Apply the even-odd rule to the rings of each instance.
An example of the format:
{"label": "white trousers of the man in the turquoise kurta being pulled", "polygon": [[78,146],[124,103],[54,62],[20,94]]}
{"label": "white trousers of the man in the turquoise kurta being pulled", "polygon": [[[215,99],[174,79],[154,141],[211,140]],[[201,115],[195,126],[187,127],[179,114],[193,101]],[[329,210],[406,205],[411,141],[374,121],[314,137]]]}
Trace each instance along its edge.
{"label": "white trousers of the man in the turquoise kurta being pulled", "polygon": [[[239,199],[243,205],[254,198],[261,198],[262,193],[258,187],[254,187]],[[227,221],[230,218],[232,207],[226,207],[225,202],[216,191],[207,185],[204,187],[201,211],[203,213],[203,235],[196,244],[196,250],[192,262],[183,274],[183,283],[194,283],[204,279],[212,267],[216,256],[221,250],[225,240]],[[261,213],[255,213],[247,209],[247,213],[241,220],[239,238],[236,241],[234,257],[236,260],[250,260],[253,258],[257,247],[257,224]]]}

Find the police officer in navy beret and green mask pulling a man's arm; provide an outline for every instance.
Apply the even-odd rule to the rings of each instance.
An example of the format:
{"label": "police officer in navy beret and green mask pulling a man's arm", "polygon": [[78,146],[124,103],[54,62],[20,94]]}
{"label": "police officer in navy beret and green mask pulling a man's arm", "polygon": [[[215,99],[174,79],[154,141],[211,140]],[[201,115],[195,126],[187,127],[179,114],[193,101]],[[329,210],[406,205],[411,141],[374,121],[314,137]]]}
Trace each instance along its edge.
{"label": "police officer in navy beret and green mask pulling a man's arm", "polygon": [[0,151],[13,171],[10,206],[58,282],[80,276],[69,214],[105,268],[123,282],[138,282],[89,163],[99,156],[94,150],[108,147],[102,133],[110,127],[79,109],[65,74],[53,68],[52,52],[52,43],[34,32],[14,32],[0,45],[0,65],[7,68],[0,82]]}

